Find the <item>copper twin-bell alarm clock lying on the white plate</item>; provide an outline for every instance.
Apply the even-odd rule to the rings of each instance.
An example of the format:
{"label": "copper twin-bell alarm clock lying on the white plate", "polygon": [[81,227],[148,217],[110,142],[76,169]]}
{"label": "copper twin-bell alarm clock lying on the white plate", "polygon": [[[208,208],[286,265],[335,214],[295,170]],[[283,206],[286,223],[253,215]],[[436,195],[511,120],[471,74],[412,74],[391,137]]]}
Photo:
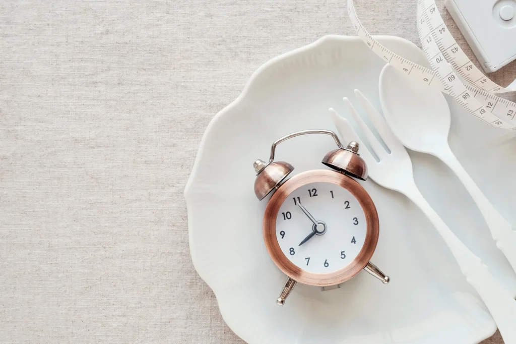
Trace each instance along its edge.
{"label": "copper twin-bell alarm clock lying on the white plate", "polygon": [[[294,167],[274,161],[276,147],[307,134],[333,137],[337,149],[322,159],[331,169],[308,170],[287,179]],[[325,291],[339,288],[362,270],[389,283],[389,276],[369,261],[380,226],[373,200],[356,180],[367,179],[367,165],[358,151],[358,143],[344,147],[332,131],[302,130],[273,142],[268,163],[254,162],[256,197],[262,200],[272,193],[263,218],[265,246],[288,277],[278,305],[285,303],[296,283]]]}

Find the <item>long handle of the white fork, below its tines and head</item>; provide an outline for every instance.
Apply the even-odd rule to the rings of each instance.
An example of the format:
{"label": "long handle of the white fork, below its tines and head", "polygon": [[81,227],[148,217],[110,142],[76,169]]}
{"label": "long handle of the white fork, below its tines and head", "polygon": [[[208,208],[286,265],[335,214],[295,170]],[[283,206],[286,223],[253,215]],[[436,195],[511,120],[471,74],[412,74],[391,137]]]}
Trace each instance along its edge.
{"label": "long handle of the white fork, below its tines and head", "polygon": [[486,265],[475,256],[448,228],[446,223],[428,204],[428,201],[417,189],[415,182],[405,193],[429,218],[441,234],[446,245],[454,255],[462,274],[471,284],[482,301],[486,304],[498,330],[507,344],[516,343],[516,301],[491,275]]}

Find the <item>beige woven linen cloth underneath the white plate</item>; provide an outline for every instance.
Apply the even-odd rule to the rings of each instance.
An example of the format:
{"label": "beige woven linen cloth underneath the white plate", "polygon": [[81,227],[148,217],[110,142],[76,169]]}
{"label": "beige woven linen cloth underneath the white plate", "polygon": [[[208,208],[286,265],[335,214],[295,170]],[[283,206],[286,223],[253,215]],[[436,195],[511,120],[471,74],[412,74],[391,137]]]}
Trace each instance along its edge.
{"label": "beige woven linen cloth underneath the white plate", "polygon": [[[357,8],[418,44],[415,3]],[[345,0],[0,2],[0,342],[243,343],[193,269],[183,189],[251,73],[326,34],[352,34]]]}

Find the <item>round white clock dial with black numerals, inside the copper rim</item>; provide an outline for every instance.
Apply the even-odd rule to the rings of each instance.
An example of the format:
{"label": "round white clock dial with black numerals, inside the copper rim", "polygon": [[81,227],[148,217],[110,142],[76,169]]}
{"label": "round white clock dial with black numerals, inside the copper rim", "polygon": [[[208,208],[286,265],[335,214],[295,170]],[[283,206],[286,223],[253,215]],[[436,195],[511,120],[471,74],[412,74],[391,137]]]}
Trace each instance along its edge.
{"label": "round white clock dial with black numerals, inside the copper rim", "polygon": [[344,187],[327,182],[294,190],[276,218],[281,251],[311,273],[344,269],[360,253],[366,232],[366,217],[357,198]]}

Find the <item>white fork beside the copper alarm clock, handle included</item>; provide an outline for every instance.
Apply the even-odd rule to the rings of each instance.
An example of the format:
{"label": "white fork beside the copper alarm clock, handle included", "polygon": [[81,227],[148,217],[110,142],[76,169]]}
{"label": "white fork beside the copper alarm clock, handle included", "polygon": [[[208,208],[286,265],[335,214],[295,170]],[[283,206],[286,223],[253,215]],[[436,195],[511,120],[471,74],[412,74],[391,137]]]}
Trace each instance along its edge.
{"label": "white fork beside the copper alarm clock, handle included", "polygon": [[516,301],[512,299],[512,296],[489,273],[486,265],[481,263],[480,258],[475,256],[475,254],[455,236],[436,211],[428,204],[427,200],[416,186],[412,174],[412,161],[405,147],[394,136],[382,115],[380,115],[364,95],[362,95],[359,90],[355,90],[355,95],[376,128],[376,131],[391,152],[389,153],[384,149],[347,98],[344,98],[344,103],[354,120],[357,121],[362,129],[367,142],[370,147],[372,147],[379,162],[376,161],[372,153],[363,144],[362,140],[360,140],[357,133],[354,132],[347,119],[339,116],[335,110],[330,108],[333,122],[341,137],[346,141],[355,140],[359,143],[361,147],[360,154],[367,163],[369,177],[373,178],[376,183],[387,189],[404,194],[428,216],[457,260],[460,270],[466,277],[467,282],[475,288],[480,298],[491,312],[505,343],[516,344]]}

